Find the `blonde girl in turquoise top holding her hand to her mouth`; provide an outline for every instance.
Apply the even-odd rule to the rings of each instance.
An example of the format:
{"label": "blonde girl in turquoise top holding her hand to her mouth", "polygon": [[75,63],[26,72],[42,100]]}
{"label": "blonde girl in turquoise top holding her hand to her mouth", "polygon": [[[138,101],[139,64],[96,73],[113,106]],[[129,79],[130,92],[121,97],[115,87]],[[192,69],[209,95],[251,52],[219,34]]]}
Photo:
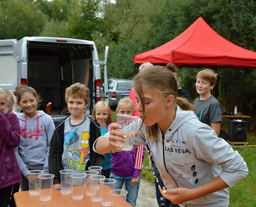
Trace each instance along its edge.
{"label": "blonde girl in turquoise top holding her hand to her mouth", "polygon": [[[108,132],[108,125],[112,123],[112,111],[105,101],[96,103],[92,111],[92,119],[100,123],[100,133],[105,135]],[[104,155],[105,160],[102,164],[101,174],[109,178],[111,172],[111,153]]]}

